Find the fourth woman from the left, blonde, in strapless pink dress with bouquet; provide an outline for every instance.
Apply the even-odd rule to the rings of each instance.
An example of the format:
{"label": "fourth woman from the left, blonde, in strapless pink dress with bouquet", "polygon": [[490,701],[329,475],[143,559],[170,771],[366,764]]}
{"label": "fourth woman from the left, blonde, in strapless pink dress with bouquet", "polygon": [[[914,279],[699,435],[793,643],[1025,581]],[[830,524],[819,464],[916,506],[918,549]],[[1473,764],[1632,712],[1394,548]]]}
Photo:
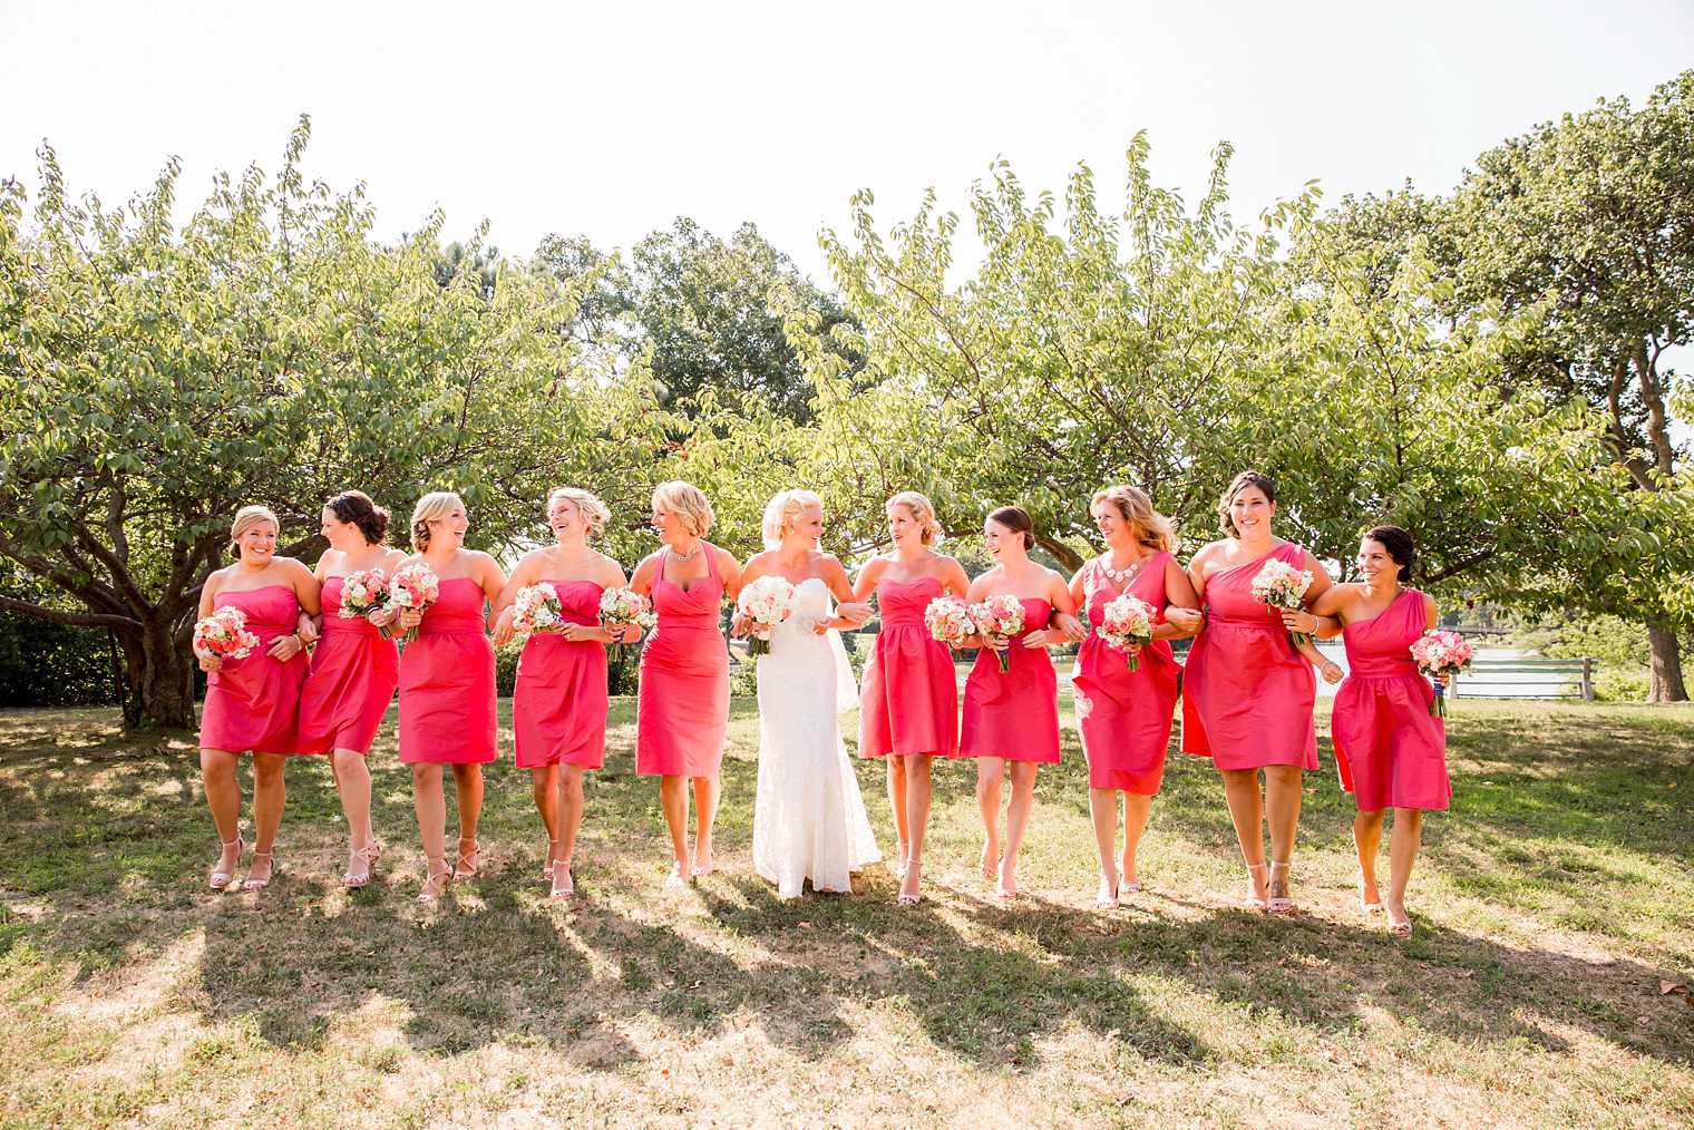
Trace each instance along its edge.
{"label": "fourth woman from the left, blonde, in strapless pink dress with bouquet", "polygon": [[[547,828],[551,898],[576,895],[571,854],[583,827],[583,771],[598,769],[606,754],[606,644],[600,627],[600,595],[623,586],[623,566],[588,546],[612,512],[584,490],[561,486],[547,495],[547,525],[557,542],[523,554],[495,601],[495,644],[512,639],[512,601],[518,590],[542,581],[559,593],[566,625],[535,632],[518,657],[512,695],[517,766],[530,771],[535,810]],[[635,637],[635,632],[630,632]]]}

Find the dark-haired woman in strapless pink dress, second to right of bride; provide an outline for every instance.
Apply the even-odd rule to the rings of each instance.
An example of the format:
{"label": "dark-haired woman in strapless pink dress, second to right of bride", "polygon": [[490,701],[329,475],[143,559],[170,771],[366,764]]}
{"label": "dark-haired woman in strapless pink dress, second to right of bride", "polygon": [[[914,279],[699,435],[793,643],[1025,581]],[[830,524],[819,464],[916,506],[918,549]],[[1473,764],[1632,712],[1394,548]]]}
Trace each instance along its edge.
{"label": "dark-haired woman in strapless pink dress, second to right of bride", "polygon": [[[966,598],[1016,596],[1023,632],[1013,640],[972,637],[976,664],[964,683],[966,757],[976,757],[976,803],[983,810],[984,879],[998,874],[996,895],[1018,895],[1018,849],[1035,803],[1035,769],[1059,761],[1059,676],[1050,644],[1082,639],[1076,601],[1064,576],[1030,561],[1035,523],[1021,507],[1001,507],[983,522],[983,544],[994,566],[971,581]],[[1005,654],[1010,667],[999,669]],[[999,796],[1011,773],[1006,805],[1006,850],[999,850]]]}

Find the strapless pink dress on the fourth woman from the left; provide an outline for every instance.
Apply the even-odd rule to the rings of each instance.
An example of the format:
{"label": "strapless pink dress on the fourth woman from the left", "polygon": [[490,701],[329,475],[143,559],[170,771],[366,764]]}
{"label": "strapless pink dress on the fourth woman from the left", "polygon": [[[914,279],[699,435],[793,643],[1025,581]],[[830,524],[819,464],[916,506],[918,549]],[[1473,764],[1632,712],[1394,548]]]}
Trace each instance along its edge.
{"label": "strapless pink dress on the fourth woman from the left", "polygon": [[[547,581],[571,623],[600,623],[593,581]],[[512,691],[512,728],[518,769],[583,766],[598,769],[606,754],[606,647],[535,632],[518,656]]]}

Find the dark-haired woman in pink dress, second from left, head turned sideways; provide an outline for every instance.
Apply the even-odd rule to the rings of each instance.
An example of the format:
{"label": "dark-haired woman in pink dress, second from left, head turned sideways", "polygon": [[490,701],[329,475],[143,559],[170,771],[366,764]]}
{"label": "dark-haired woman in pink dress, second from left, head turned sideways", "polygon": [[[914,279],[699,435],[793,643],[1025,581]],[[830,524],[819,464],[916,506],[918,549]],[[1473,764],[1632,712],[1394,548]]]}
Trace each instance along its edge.
{"label": "dark-haired woman in pink dress, second from left, head turned sideways", "polygon": [[324,586],[324,639],[312,651],[300,693],[300,749],[330,756],[352,837],[340,879],[356,889],[371,881],[371,864],[383,854],[371,828],[371,771],[364,759],[400,684],[400,651],[378,630],[393,613],[344,618],[340,593],[352,573],[381,569],[393,576],[405,554],[386,546],[388,512],[364,491],[342,491],[324,503],[318,532],[329,542],[315,573]]}

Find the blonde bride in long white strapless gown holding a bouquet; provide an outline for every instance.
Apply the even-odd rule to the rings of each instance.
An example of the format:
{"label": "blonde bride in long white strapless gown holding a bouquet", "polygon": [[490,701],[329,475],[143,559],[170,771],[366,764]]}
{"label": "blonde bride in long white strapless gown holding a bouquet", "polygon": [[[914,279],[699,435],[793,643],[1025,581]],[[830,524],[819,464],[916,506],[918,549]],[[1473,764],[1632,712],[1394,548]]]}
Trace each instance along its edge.
{"label": "blonde bride in long white strapless gown holding a bouquet", "polygon": [[[852,872],[881,859],[859,800],[837,713],[859,703],[847,651],[835,629],[857,627],[869,605],[850,603],[852,584],[833,554],[818,552],[823,501],[788,490],[764,508],[762,554],[742,583],[779,576],[794,586],[794,612],[771,629],[771,651],[759,656],[759,795],[752,813],[752,862],[796,898],[815,891],[852,891]],[[842,601],[830,612],[830,596]],[[749,630],[735,617],[735,634]]]}

